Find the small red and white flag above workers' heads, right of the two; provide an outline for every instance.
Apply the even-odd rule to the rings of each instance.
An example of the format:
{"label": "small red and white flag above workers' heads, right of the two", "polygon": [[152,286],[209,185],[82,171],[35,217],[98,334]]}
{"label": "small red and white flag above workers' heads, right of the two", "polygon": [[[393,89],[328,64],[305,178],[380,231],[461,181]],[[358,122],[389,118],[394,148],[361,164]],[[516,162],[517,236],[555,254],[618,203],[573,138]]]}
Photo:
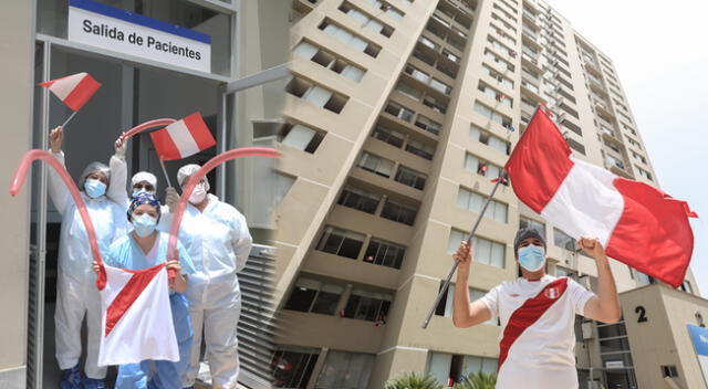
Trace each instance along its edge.
{"label": "small red and white flag above workers' heads, right of the two", "polygon": [[150,133],[150,138],[162,160],[187,158],[217,144],[198,112]]}

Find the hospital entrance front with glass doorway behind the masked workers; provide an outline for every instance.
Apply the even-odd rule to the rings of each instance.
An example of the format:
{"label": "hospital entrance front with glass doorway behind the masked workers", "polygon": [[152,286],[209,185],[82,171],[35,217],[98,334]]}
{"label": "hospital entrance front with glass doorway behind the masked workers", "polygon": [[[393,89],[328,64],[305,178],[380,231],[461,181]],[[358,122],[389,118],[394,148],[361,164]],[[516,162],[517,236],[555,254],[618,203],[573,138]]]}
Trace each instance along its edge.
{"label": "hospital entrance front with glass doorway behind the masked workers", "polygon": [[[84,7],[87,1],[80,1]],[[200,112],[217,146],[181,161],[168,161],[173,182],[184,164],[204,164],[215,155],[242,146],[272,146],[281,125],[284,80],[259,72],[284,66],[288,61],[290,7],[280,0],[97,0],[113,14],[149,18],[145,25],[171,25],[209,35],[210,63],[206,70],[160,62],[140,53],[129,54],[112,45],[93,46],[69,35],[67,0],[10,0],[0,4],[0,42],[3,48],[2,115],[7,117],[2,145],[2,181],[10,182],[21,156],[29,149],[48,149],[48,129],[71,112],[37,83],[87,72],[100,83],[98,92],[66,126],[66,168],[76,178],[88,161],[107,162],[113,143],[143,122],[181,118]],[[97,4],[97,6],[95,6]],[[128,19],[129,19],[128,18]],[[143,19],[144,21],[147,19]],[[143,25],[139,24],[138,25]],[[143,27],[145,27],[143,25]],[[287,72],[283,72],[287,74]],[[167,186],[154,148],[146,136],[132,139],[128,172],[148,170],[158,177],[158,195]],[[273,164],[241,160],[209,175],[211,191],[236,206],[248,219],[256,248],[242,275],[241,379],[251,387],[270,381],[268,358],[259,360],[260,295],[272,256],[270,239],[274,221]],[[54,359],[53,311],[61,215],[46,196],[48,167],[34,164],[31,178],[17,198],[0,196],[2,228],[0,307],[7,319],[0,325],[0,387],[54,388],[59,367]],[[233,324],[235,326],[237,323]],[[266,353],[268,354],[268,353]],[[262,372],[261,370],[263,370]],[[261,369],[261,370],[259,370]]]}

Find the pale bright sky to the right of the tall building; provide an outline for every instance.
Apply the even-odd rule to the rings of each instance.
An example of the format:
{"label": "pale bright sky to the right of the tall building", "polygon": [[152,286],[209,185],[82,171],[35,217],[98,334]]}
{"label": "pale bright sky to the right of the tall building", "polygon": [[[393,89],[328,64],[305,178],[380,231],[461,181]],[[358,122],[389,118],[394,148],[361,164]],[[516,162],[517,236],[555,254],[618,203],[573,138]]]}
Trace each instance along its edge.
{"label": "pale bright sky to the right of the tall building", "polygon": [[610,56],[662,190],[688,201],[708,297],[708,2],[546,0]]}

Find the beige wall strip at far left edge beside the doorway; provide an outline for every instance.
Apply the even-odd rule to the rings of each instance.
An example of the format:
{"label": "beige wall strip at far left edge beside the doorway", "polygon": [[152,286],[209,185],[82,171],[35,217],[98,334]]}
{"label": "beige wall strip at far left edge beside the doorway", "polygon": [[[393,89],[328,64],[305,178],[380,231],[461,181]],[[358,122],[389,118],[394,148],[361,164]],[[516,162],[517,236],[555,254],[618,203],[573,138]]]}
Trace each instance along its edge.
{"label": "beige wall strip at far left edge beside the doorway", "polygon": [[[21,156],[30,148],[34,53],[34,2],[0,2],[0,182],[8,185]],[[0,387],[24,387],[27,340],[27,283],[29,259],[29,188],[17,197],[0,190]]]}

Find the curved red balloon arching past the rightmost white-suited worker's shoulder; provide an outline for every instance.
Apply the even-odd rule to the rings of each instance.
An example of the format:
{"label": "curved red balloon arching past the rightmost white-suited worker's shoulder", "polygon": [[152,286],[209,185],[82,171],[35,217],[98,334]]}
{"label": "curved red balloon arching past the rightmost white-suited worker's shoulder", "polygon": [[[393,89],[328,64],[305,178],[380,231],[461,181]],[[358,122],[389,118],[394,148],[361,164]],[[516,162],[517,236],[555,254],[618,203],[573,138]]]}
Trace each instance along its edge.
{"label": "curved red balloon arching past the rightmost white-suited worker's shoulder", "polygon": [[[218,156],[209,159],[197,172],[189,177],[187,181],[187,186],[181,192],[179,197],[179,203],[177,206],[177,212],[175,212],[175,217],[173,219],[173,225],[169,230],[169,244],[167,246],[168,257],[177,259],[177,235],[179,234],[179,224],[181,223],[181,217],[185,213],[185,209],[187,208],[187,201],[189,201],[189,196],[195,190],[197,183],[201,181],[201,179],[214,168],[217,166],[229,161],[231,159],[242,158],[242,157],[269,157],[269,158],[280,158],[281,154],[274,148],[270,147],[241,147],[235,148],[232,150],[223,151]],[[175,277],[175,271],[173,269],[168,270],[169,278]]]}

